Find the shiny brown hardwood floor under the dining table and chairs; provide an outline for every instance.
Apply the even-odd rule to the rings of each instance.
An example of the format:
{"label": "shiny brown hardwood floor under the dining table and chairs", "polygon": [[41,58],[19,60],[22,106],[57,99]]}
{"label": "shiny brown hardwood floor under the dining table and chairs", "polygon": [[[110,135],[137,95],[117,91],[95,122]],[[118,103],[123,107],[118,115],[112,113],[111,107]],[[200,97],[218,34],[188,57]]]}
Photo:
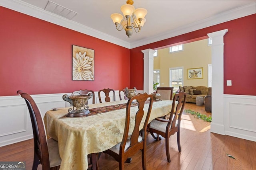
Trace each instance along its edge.
{"label": "shiny brown hardwood floor under the dining table and chairs", "polygon": [[[185,109],[206,113],[204,106],[187,103]],[[147,137],[148,170],[256,170],[256,142],[236,137],[210,133],[210,123],[183,113],[181,126],[181,152],[178,152],[176,134],[170,137],[171,162],[168,163],[165,141],[155,141]],[[227,156],[230,154],[236,159]],[[31,169],[33,160],[33,141],[23,141],[0,147],[0,161],[26,161],[26,169]],[[100,170],[118,170],[118,162],[102,153],[99,159]],[[41,170],[38,166],[38,170]],[[141,170],[141,154],[132,157],[125,166],[127,170]]]}

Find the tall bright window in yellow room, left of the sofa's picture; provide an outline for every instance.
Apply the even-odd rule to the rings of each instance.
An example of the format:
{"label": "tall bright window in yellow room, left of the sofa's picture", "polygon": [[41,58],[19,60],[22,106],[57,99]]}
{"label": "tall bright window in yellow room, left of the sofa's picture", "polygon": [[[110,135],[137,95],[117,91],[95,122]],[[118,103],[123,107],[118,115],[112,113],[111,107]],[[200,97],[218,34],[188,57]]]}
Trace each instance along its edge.
{"label": "tall bright window in yellow room, left of the sofa's picture", "polygon": [[183,86],[183,67],[169,68],[170,70],[170,87],[174,87],[176,92],[179,86]]}

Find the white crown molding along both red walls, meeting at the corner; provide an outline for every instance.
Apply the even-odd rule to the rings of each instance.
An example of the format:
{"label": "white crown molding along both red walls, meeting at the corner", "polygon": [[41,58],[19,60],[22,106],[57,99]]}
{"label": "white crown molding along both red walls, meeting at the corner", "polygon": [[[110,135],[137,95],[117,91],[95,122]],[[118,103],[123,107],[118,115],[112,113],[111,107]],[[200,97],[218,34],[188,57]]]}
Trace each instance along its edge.
{"label": "white crown molding along both red walls, meeting at the corner", "polygon": [[78,31],[80,33],[84,33],[86,35],[90,35],[92,37],[96,37],[98,39],[102,39],[104,41],[108,41],[110,43],[114,43],[116,45],[120,45],[121,47],[125,47],[128,49],[132,49],[135,47],[140,47],[142,45],[146,45],[149,43],[154,43],[156,41],[161,41],[163,39],[168,39],[177,35],[182,35],[184,33],[188,33],[191,31],[196,31],[198,29],[202,29],[205,27],[210,27],[212,25],[216,25],[218,23],[223,23],[226,21],[234,20],[237,18],[241,18],[244,16],[248,16],[256,13],[256,2],[251,4],[224,12],[222,14],[218,14],[216,16],[206,18],[204,20],[200,20],[198,22],[190,23],[188,25],[184,25],[177,29],[170,30],[168,33],[162,33],[155,35],[153,37],[149,37],[146,39],[142,39],[140,41],[136,41],[135,43],[128,43],[106,33],[102,33],[97,31],[96,29],[92,29],[90,27],[86,27],[80,23],[76,23],[74,21],[68,20],[66,18],[62,18],[56,14],[52,14],[48,11],[45,11],[36,6],[32,6],[26,2],[20,0],[1,0],[0,5],[9,8],[11,10],[15,10],[17,12],[21,12],[23,14],[27,14],[29,16],[33,16],[35,18],[39,18],[44,21],[48,21],[54,23],[56,25],[60,25],[62,27],[66,27],[68,29],[72,29],[74,31]]}

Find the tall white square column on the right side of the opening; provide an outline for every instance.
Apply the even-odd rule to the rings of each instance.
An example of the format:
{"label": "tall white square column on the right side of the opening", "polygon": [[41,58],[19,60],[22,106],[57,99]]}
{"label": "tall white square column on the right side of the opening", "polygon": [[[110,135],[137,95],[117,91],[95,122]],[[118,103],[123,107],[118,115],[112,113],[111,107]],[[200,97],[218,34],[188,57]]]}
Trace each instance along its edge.
{"label": "tall white square column on the right side of the opening", "polygon": [[225,135],[224,125],[224,35],[228,29],[208,33],[212,39],[211,132]]}

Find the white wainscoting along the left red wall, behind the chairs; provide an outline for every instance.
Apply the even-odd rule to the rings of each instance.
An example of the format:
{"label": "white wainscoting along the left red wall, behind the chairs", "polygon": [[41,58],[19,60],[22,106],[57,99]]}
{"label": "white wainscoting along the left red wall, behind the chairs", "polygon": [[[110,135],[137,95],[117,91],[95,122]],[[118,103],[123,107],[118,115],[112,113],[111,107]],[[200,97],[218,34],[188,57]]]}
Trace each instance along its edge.
{"label": "white wainscoting along the left red wall, behind the chairs", "polygon": [[[137,93],[143,93],[137,90]],[[69,107],[70,104],[62,99],[64,94],[38,94],[31,95],[36,102],[42,117],[46,111],[54,107]],[[124,98],[124,94],[121,94]],[[110,93],[113,101],[114,95]],[[120,100],[118,91],[115,91],[116,101]],[[95,92],[95,103],[99,103],[98,92]],[[104,95],[102,97],[104,101]],[[92,104],[92,98],[88,100]],[[33,138],[32,125],[26,102],[20,96],[0,96],[0,147],[25,141]]]}

